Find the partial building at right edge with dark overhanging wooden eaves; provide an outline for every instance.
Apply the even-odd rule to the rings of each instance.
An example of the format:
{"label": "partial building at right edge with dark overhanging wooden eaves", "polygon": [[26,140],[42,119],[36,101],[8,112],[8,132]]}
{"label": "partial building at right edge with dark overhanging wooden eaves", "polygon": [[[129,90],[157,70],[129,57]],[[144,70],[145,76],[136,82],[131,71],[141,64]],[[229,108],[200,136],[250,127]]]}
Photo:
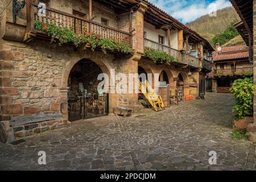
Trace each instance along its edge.
{"label": "partial building at right edge with dark overhanging wooden eaves", "polygon": [[[238,22],[236,27],[240,32],[243,40],[249,47],[249,60],[253,63],[254,84],[256,85],[256,1],[255,0],[230,0],[242,22]],[[251,123],[247,130],[249,131],[249,139],[256,143],[256,97],[254,97],[254,123]]]}

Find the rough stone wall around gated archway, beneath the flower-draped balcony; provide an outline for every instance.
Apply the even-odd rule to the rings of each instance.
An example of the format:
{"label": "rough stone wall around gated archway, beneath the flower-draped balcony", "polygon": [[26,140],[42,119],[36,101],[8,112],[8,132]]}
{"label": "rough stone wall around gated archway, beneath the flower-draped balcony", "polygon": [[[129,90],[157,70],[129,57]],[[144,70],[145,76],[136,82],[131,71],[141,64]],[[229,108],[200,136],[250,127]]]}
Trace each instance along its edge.
{"label": "rough stone wall around gated archway, beneath the flower-draped balcony", "polygon": [[61,104],[67,102],[61,86],[63,76],[68,77],[65,69],[70,61],[91,59],[107,65],[108,70],[114,68],[116,74],[137,70],[130,59],[115,60],[113,55],[101,51],[77,52],[72,46],[59,47],[42,40],[30,44],[5,42],[1,47],[2,121],[40,111],[61,111]]}

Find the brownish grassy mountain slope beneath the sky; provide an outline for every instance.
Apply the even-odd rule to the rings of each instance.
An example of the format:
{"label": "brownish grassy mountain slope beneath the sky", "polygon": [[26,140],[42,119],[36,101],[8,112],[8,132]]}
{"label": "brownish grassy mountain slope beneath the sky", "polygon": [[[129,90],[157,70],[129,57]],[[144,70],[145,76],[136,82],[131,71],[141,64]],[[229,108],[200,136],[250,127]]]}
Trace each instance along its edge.
{"label": "brownish grassy mountain slope beneath the sky", "polygon": [[240,17],[236,10],[233,7],[229,7],[218,10],[216,17],[204,15],[186,25],[212,43],[212,39],[216,34],[225,31],[230,23],[236,23],[238,21],[240,21]]}

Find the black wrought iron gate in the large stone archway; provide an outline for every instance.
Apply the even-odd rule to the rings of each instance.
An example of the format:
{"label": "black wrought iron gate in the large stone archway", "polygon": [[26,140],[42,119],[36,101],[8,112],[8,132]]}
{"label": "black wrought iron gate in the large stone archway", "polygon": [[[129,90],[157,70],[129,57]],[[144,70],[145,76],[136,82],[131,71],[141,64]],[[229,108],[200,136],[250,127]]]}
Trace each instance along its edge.
{"label": "black wrought iron gate in the large stone archway", "polygon": [[79,119],[100,117],[109,114],[109,94],[85,95],[85,93],[74,93],[68,98],[68,119],[76,121]]}

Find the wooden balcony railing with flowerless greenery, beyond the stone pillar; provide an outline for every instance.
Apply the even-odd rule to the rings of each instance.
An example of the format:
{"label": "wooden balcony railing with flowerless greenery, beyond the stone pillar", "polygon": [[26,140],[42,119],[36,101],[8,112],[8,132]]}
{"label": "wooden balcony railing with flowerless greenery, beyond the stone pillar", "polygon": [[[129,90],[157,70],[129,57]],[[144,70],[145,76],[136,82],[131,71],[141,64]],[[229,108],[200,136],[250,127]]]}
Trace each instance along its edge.
{"label": "wooden balcony railing with flowerless greenery, beyond the stone pillar", "polygon": [[174,56],[176,63],[190,65],[195,68],[199,68],[200,66],[200,60],[197,57],[178,51],[177,49],[171,48],[170,46],[159,44],[153,40],[144,38],[144,49],[146,48],[155,49],[160,52],[166,52],[169,55]]}

